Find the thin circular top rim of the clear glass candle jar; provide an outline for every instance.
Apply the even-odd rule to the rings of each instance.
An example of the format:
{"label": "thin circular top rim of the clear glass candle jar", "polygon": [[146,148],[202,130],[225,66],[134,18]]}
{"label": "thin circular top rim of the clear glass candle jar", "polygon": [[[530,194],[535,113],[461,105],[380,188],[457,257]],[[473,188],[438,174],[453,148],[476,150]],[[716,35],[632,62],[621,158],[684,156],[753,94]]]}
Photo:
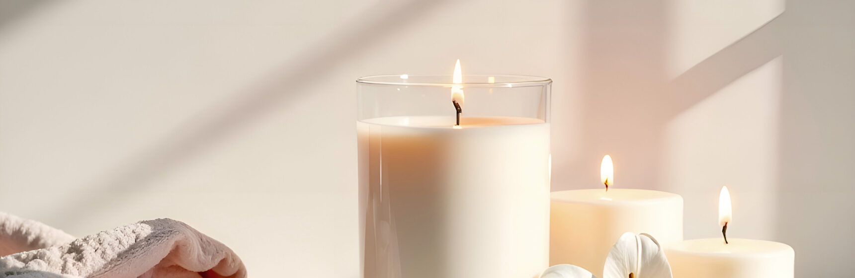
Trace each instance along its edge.
{"label": "thin circular top rim of the clear glass candle jar", "polygon": [[[406,78],[404,78],[406,77]],[[422,87],[446,87],[451,88],[452,86],[463,86],[465,87],[479,87],[479,88],[514,88],[514,87],[532,87],[532,86],[545,86],[547,84],[552,83],[551,78],[544,78],[539,76],[530,76],[530,75],[516,75],[516,74],[464,74],[463,80],[472,80],[472,79],[481,79],[487,80],[487,78],[509,78],[509,79],[517,79],[515,81],[500,81],[497,80],[494,83],[489,82],[463,82],[460,84],[455,84],[451,82],[420,82],[419,79],[430,79],[437,78],[442,80],[451,80],[451,75],[411,75],[411,74],[398,74],[398,75],[371,75],[364,76],[361,78],[357,78],[357,83],[362,84],[376,84],[376,85],[395,85],[395,86],[422,86]],[[394,78],[398,78],[398,80],[402,81],[390,81],[394,80]],[[411,82],[415,81],[415,82]]]}

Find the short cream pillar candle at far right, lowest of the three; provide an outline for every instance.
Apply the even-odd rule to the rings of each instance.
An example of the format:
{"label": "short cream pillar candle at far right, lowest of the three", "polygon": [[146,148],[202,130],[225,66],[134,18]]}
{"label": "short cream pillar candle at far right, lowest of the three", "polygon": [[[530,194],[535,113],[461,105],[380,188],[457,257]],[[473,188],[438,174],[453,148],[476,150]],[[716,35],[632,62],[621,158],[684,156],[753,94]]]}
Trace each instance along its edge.
{"label": "short cream pillar candle at far right, lowest of the three", "polygon": [[792,278],[795,252],[774,241],[728,238],[665,246],[675,278]]}

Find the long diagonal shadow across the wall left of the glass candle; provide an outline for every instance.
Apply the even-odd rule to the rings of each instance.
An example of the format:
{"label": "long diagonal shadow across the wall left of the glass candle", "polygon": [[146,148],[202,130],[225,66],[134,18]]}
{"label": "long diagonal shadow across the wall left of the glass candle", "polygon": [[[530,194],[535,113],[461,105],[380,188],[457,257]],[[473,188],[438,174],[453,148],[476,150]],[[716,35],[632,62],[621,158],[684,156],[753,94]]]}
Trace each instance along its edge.
{"label": "long diagonal shadow across the wall left of the glass candle", "polygon": [[[428,14],[443,1],[390,1],[377,3],[357,14],[350,22],[312,44],[291,61],[282,63],[265,77],[260,78],[245,90],[233,96],[221,107],[212,107],[205,113],[192,117],[170,134],[174,135],[139,157],[127,159],[117,171],[107,172],[96,182],[94,192],[83,199],[68,200],[58,207],[63,221],[81,221],[94,217],[97,211],[121,204],[116,197],[128,194],[105,194],[144,187],[157,177],[167,174],[187,159],[198,155],[216,142],[239,131],[239,129],[263,115],[280,109],[283,103],[304,97],[312,80],[324,76],[324,72],[339,62],[357,55],[384,38],[402,29],[408,22],[422,14]],[[109,195],[109,200],[106,196]],[[70,223],[54,223],[58,227]]]}

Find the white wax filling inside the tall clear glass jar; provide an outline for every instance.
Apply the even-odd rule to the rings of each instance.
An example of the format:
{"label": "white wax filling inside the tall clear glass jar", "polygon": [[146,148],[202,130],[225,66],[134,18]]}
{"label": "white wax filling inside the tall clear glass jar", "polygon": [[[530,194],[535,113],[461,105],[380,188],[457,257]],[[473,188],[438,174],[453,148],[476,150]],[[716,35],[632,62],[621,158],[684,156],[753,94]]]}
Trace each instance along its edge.
{"label": "white wax filling inside the tall clear glass jar", "polygon": [[364,277],[534,277],[548,266],[549,124],[357,123]]}

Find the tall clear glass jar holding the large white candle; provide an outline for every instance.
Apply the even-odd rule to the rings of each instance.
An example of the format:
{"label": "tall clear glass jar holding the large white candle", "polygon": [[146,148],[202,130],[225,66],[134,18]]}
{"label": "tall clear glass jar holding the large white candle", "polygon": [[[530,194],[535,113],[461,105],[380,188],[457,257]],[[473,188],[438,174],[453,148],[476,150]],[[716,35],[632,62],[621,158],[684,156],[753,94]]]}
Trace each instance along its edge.
{"label": "tall clear glass jar holding the large white candle", "polygon": [[452,80],[357,80],[363,277],[519,278],[548,266],[551,80]]}

